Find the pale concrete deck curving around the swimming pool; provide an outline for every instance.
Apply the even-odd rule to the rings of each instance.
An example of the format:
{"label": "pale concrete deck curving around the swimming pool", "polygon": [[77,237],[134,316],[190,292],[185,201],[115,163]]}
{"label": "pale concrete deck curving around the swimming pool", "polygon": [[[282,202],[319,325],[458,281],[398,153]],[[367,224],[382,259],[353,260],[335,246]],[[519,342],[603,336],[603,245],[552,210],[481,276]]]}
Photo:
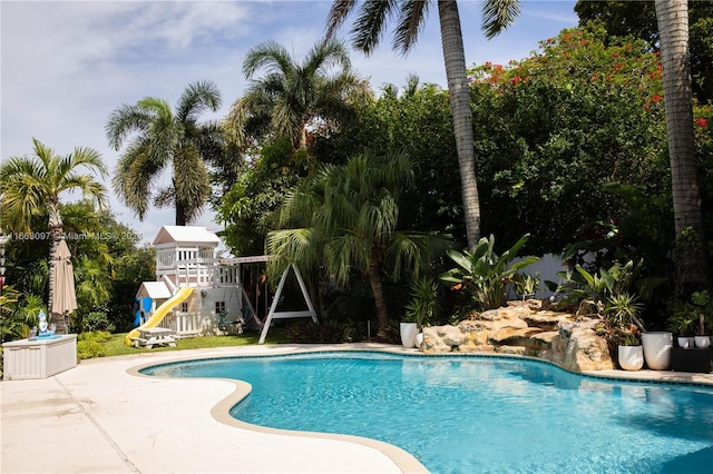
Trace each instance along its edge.
{"label": "pale concrete deck curving around the swimming pool", "polygon": [[[304,350],[371,349],[380,344],[275,345],[140,353],[82,361],[46,379],[0,383],[2,473],[420,473],[394,446],[241,423],[228,415],[246,384],[166,379],[137,367],[169,361]],[[623,371],[598,376],[713,386],[713,374]]]}

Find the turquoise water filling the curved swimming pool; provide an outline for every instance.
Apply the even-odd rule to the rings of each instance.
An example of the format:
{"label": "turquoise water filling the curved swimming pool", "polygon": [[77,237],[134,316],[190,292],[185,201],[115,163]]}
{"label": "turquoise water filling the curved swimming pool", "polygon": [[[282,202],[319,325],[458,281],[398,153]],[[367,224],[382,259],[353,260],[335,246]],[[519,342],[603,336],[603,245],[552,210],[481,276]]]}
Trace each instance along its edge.
{"label": "turquoise water filling the curved swimming pool", "polygon": [[711,473],[713,389],[495,357],[319,353],[143,371],[251,383],[241,421],[365,436],[433,473]]}

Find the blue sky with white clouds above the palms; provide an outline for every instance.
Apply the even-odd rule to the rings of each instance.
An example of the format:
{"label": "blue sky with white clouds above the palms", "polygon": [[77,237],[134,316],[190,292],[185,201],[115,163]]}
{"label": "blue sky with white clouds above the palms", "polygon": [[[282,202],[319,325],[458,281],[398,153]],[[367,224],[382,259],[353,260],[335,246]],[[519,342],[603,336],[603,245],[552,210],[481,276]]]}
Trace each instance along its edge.
{"label": "blue sky with white clouds above the palms", "polygon": [[[522,59],[538,42],[577,24],[575,0],[522,0],[515,24],[492,40],[481,29],[481,2],[460,0],[466,65]],[[32,138],[65,156],[76,147],[99,151],[110,171],[124,149],[108,145],[105,126],[113,110],[144,97],[175,107],[185,88],[213,81],[224,117],[245,91],[242,63],[247,51],[274,40],[297,61],[324,33],[331,2],[282,1],[0,1],[0,159],[32,152]],[[434,7],[434,6],[433,6]],[[431,8],[418,43],[403,57],[391,50],[391,34],[365,57],[352,52],[352,67],[378,92],[403,86],[409,75],[446,86],[438,11]],[[349,38],[348,20],[340,31]],[[169,176],[164,177],[169,182]],[[150,210],[144,221],[120,204],[110,186],[117,220],[150,243],[172,209]],[[65,201],[78,195],[62,196]],[[194,225],[219,230],[206,207]]]}

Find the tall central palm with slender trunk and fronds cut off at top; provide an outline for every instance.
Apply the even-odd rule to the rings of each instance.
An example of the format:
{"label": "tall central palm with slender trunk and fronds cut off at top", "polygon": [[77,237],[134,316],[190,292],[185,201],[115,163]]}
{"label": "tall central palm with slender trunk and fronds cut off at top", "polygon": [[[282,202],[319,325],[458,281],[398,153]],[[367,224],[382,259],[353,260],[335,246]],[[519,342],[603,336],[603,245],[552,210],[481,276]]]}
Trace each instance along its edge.
{"label": "tall central palm with slender trunk and fronds cut off at top", "polygon": [[[446,78],[453,116],[468,247],[475,250],[480,238],[480,200],[476,180],[466,53],[457,1],[364,0],[352,29],[353,42],[364,53],[371,53],[379,43],[388,18],[395,16],[398,20],[393,48],[406,55],[416,45],[419,31],[426,21],[428,8],[436,1],[438,1]],[[356,4],[355,0],[334,0],[328,18],[328,39],[332,38]],[[486,37],[492,38],[498,34],[515,20],[518,13],[519,0],[486,0],[482,7],[482,28]]]}

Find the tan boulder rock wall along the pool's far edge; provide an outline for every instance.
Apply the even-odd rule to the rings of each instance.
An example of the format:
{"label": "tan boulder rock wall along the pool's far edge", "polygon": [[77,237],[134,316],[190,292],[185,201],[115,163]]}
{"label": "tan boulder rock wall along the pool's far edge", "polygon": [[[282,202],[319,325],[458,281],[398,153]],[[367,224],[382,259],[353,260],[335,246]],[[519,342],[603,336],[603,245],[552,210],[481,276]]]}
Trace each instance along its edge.
{"label": "tan boulder rock wall along the pool's far edge", "polygon": [[567,371],[616,368],[597,318],[547,308],[546,300],[509,302],[473,314],[458,326],[423,328],[421,349],[436,353],[518,354],[553,362]]}

